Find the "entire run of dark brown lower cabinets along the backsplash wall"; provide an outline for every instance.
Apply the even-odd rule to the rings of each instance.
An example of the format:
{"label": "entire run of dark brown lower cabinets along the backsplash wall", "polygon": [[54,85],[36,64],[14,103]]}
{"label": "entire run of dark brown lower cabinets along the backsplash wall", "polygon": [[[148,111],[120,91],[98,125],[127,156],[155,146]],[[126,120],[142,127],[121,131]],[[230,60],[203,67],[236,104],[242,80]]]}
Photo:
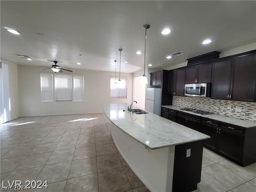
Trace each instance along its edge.
{"label": "entire run of dark brown lower cabinets along the backsplash wall", "polygon": [[256,162],[256,126],[243,128],[164,107],[161,116],[210,136],[206,148],[241,166]]}

